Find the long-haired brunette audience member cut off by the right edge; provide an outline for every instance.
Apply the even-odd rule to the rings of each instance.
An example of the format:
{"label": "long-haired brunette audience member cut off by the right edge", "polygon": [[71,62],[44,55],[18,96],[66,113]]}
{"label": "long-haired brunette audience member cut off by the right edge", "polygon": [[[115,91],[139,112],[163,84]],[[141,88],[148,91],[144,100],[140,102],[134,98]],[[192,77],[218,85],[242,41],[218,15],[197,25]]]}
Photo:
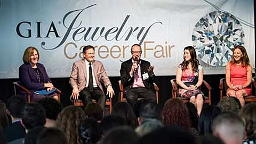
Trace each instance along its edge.
{"label": "long-haired brunette audience member cut off by the right edge", "polygon": [[240,115],[245,120],[245,132],[246,139],[243,144],[255,144],[256,143],[256,103],[247,103],[242,110]]}

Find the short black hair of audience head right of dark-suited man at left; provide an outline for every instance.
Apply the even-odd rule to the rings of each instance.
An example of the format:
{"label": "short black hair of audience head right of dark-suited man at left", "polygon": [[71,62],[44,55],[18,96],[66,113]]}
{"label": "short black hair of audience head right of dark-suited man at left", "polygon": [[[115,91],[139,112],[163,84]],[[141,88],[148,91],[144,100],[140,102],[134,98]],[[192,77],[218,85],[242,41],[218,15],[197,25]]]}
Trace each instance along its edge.
{"label": "short black hair of audience head right of dark-suited man at left", "polygon": [[44,126],[46,122],[45,109],[38,102],[26,103],[22,110],[22,123],[26,129]]}

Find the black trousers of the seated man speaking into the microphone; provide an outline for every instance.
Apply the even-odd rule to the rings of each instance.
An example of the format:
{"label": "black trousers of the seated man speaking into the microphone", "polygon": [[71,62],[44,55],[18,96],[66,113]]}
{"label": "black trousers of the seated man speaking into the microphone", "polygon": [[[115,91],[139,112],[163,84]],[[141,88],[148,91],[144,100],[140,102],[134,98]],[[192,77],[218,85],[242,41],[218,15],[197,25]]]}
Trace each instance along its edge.
{"label": "black trousers of the seated man speaking into the microphone", "polygon": [[148,90],[146,87],[132,87],[125,93],[124,97],[126,98],[127,102],[132,106],[132,108],[134,108],[134,105],[138,101],[138,98],[156,102],[155,93]]}

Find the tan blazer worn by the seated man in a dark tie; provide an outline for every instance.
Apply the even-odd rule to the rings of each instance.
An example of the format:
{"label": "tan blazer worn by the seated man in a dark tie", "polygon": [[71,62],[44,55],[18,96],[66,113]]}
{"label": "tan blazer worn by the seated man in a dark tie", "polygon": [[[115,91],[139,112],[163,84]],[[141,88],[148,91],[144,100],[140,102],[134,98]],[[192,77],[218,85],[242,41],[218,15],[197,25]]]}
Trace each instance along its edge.
{"label": "tan blazer worn by the seated man in a dark tie", "polygon": [[[100,89],[103,91],[103,87],[101,83],[104,84],[105,87],[108,85],[112,86],[108,75],[106,73],[105,68],[102,65],[102,62],[94,60],[93,64],[93,73],[96,79],[97,85],[100,87]],[[87,71],[86,71],[86,65],[84,60],[78,60],[73,63],[69,84],[74,87],[77,86],[79,92],[82,91],[86,85],[87,81]]]}

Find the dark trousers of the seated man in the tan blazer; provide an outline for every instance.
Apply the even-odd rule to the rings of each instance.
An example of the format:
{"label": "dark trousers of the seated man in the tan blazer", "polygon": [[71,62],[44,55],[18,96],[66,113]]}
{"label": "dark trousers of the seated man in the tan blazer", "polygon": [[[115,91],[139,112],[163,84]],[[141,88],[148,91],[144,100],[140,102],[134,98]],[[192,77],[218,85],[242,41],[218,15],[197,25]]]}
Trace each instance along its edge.
{"label": "dark trousers of the seated man in the tan blazer", "polygon": [[92,92],[89,91],[88,87],[85,87],[79,92],[79,95],[81,97],[80,99],[83,101],[84,107],[94,99],[104,110],[106,97],[99,87],[94,87]]}

